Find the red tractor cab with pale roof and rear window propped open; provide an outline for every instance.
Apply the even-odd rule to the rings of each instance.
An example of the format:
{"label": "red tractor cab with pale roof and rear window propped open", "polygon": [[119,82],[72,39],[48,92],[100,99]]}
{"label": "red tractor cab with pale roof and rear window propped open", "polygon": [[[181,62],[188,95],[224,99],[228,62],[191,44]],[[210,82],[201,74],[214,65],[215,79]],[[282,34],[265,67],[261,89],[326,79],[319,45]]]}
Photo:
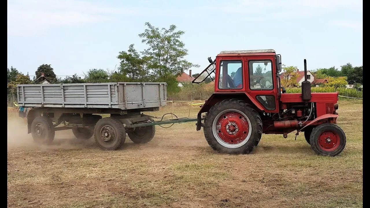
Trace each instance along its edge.
{"label": "red tractor cab with pale roof and rear window propped open", "polygon": [[244,93],[267,113],[277,113],[280,93],[280,55],[275,50],[221,51],[193,83],[207,77],[215,81],[215,93]]}

